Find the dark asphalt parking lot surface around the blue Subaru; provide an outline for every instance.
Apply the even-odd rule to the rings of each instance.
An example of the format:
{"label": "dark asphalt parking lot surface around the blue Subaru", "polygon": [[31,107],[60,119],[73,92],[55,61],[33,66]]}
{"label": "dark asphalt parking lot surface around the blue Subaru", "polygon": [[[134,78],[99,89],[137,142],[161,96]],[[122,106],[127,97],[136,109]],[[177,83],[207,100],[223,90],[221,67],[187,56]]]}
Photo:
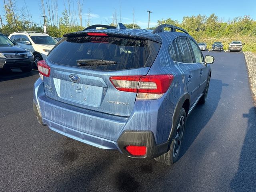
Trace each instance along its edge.
{"label": "dark asphalt parking lot surface around the blue Subaru", "polygon": [[215,57],[206,104],[188,118],[172,166],[130,159],[41,126],[33,112],[38,71],[0,74],[0,191],[256,191],[256,108],[243,53]]}

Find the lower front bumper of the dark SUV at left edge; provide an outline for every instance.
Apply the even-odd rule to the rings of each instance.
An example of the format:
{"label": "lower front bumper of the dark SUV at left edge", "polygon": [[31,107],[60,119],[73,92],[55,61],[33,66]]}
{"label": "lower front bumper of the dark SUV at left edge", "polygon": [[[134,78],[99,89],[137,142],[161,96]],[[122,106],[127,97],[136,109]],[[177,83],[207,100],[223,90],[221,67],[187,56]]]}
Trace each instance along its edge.
{"label": "lower front bumper of the dark SUV at left edge", "polygon": [[26,59],[6,59],[0,58],[0,68],[14,69],[22,67],[32,67],[34,64],[34,57]]}

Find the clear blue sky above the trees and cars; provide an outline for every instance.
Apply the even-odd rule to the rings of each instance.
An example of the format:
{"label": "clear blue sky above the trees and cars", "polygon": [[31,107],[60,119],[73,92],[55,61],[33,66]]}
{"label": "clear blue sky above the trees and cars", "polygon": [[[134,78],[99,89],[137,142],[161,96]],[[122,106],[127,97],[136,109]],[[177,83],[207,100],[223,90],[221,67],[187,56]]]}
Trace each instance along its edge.
{"label": "clear blue sky above the trees and cars", "polygon": [[[0,0],[0,14],[4,15],[3,1]],[[18,8],[25,7],[25,0],[16,0]],[[51,0],[50,0],[51,1]],[[76,9],[76,0],[74,2]],[[42,24],[43,20],[40,19],[42,15],[40,9],[41,0],[26,0],[30,14],[33,17],[33,22]],[[67,2],[67,0],[66,0]],[[46,4],[45,4],[46,6]],[[73,7],[73,3],[72,3]],[[45,8],[46,9],[46,8]],[[209,16],[215,13],[218,18],[228,21],[234,17],[250,15],[251,18],[256,20],[256,1],[255,0],[84,0],[83,7],[83,25],[86,25],[88,19],[88,10],[90,9],[91,24],[108,24],[112,21],[113,12],[118,14],[118,22],[121,20],[123,23],[132,23],[133,10],[135,14],[136,23],[142,28],[148,26],[148,12],[150,14],[150,26],[155,26],[157,20],[162,18],[171,18],[172,20],[182,21],[184,16],[192,16],[198,14],[205,14]],[[64,10],[64,0],[58,0],[58,14]],[[47,14],[46,14],[47,16]]]}

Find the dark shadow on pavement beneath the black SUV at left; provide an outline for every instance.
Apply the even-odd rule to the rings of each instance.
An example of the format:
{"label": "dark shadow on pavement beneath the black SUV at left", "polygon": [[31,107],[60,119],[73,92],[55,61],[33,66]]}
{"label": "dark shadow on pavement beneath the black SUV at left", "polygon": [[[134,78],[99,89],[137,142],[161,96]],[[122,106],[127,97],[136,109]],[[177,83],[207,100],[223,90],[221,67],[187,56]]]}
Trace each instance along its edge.
{"label": "dark shadow on pavement beneath the black SUV at left", "polygon": [[38,75],[38,70],[33,69],[31,72],[22,72],[20,69],[0,70],[0,82],[25,78],[33,75]]}

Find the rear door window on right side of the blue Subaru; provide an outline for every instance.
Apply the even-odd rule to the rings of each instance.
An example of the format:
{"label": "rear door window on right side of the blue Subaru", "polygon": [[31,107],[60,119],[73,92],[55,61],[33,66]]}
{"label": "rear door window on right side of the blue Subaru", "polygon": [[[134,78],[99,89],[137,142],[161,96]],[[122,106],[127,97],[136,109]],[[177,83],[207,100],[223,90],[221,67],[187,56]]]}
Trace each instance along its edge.
{"label": "rear door window on right side of the blue Subaru", "polygon": [[184,63],[194,63],[192,52],[190,50],[187,38],[179,38],[177,40],[178,46],[180,48],[181,57]]}

